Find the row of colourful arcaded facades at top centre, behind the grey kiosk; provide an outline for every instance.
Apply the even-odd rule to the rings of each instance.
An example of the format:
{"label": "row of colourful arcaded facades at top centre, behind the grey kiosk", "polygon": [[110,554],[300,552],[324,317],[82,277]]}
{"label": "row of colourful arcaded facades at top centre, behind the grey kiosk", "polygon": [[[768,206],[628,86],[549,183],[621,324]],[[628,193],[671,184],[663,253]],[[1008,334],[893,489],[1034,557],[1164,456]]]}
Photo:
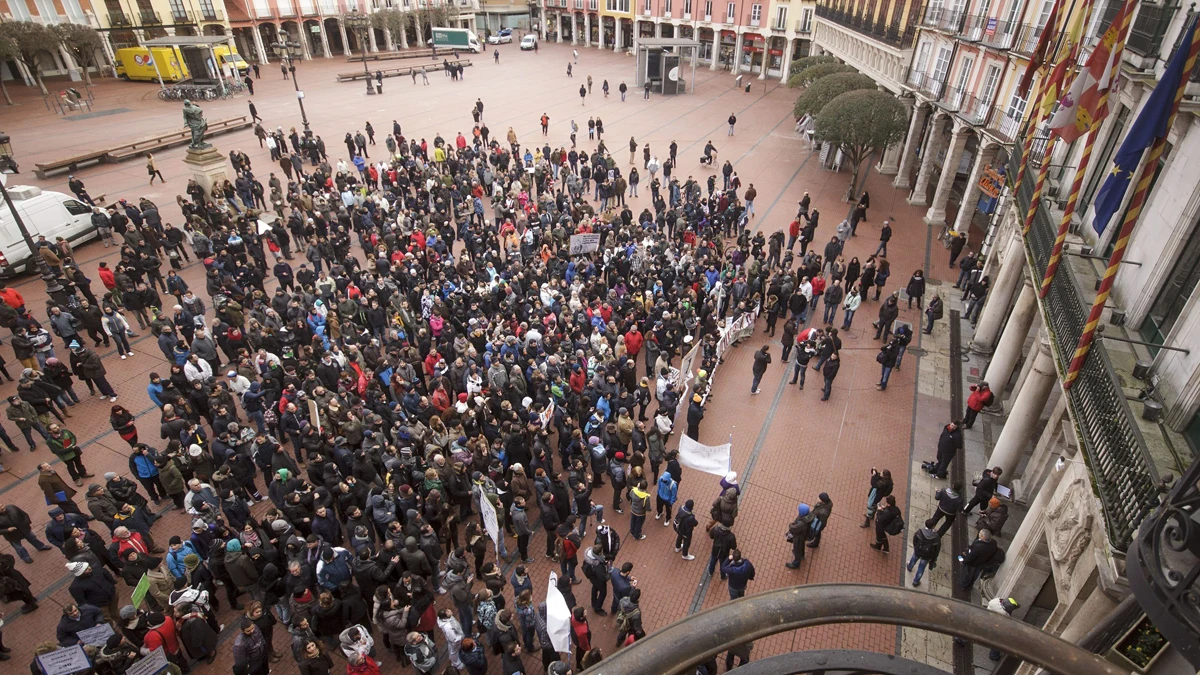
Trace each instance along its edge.
{"label": "row of colourful arcaded facades at top centre, behind the grey kiosk", "polygon": [[815,5],[797,0],[542,0],[544,40],[629,50],[640,37],[700,42],[700,60],[758,79],[787,79],[810,50]]}

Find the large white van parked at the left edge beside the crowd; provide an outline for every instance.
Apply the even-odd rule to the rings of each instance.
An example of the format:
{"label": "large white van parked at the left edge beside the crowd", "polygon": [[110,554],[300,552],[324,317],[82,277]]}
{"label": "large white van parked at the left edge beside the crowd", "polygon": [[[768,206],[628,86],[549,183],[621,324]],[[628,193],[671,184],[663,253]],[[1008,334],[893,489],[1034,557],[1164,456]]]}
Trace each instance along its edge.
{"label": "large white van parked at the left edge beside the crowd", "polygon": [[[49,241],[62,237],[76,244],[96,237],[96,228],[91,226],[91,207],[74,197],[43,192],[31,185],[10,186],[8,196],[34,240],[43,234]],[[0,277],[36,269],[29,256],[29,246],[17,228],[12,210],[0,201]]]}

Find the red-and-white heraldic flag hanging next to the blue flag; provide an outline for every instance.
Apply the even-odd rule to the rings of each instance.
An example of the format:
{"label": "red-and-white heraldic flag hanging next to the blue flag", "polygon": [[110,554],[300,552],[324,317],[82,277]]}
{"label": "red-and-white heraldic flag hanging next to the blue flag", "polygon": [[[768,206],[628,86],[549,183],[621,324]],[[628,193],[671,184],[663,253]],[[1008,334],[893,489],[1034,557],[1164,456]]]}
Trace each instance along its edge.
{"label": "red-and-white heraldic flag hanging next to the blue flag", "polygon": [[[1100,36],[1096,49],[1092,49],[1087,56],[1087,62],[1075,76],[1070,89],[1058,101],[1058,112],[1050,118],[1050,133],[1058,136],[1067,143],[1087,133],[1093,120],[1102,119],[1108,114],[1104,94],[1112,84],[1112,64],[1121,58],[1121,53],[1124,50],[1126,32],[1122,31],[1122,28],[1124,14],[1132,11],[1132,4],[1123,2],[1121,5],[1121,11]],[[1102,100],[1105,101],[1105,109],[1100,109]]]}

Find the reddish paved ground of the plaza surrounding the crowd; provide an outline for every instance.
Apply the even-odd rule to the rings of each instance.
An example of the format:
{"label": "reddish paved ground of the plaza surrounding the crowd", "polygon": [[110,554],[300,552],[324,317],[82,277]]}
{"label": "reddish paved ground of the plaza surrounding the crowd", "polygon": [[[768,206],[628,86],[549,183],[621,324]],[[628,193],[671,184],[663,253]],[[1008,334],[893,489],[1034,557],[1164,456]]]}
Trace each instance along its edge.
{"label": "reddish paved ground of the plaza surrounding the crowd", "polygon": [[[733,79],[728,73],[698,70],[695,95],[655,95],[649,101],[643,101],[640,94],[631,91],[629,100],[622,102],[616,92],[617,86],[622,79],[630,84],[634,82],[632,60],[629,56],[580,48],[580,64],[575,66],[575,77],[570,79],[565,77],[569,58],[569,46],[546,44],[539,54],[502,47],[499,65],[492,64],[490,58],[475,58],[475,66],[466,71],[466,82],[451,82],[439,72],[431,72],[428,86],[413,85],[408,78],[390,78],[384,80],[383,96],[370,98],[362,94],[361,83],[334,82],[336,72],[353,70],[353,64],[347,65],[341,60],[306,61],[299,66],[298,74],[305,90],[305,104],[313,130],[325,138],[331,161],[336,161],[338,150],[343,147],[341,138],[344,133],[361,129],[365,120],[372,121],[380,138],[390,130],[392,119],[401,121],[404,135],[410,138],[425,137],[432,141],[434,135],[442,133],[451,139],[458,131],[469,132],[470,106],[476,97],[481,97],[486,104],[485,120],[497,137],[503,138],[511,126],[523,143],[541,142],[538,119],[545,112],[551,117],[547,138],[551,143],[566,144],[569,123],[575,119],[582,129],[580,147],[590,148],[593,144],[587,141],[586,133],[587,118],[599,115],[607,131],[605,142],[619,162],[625,161],[630,136],[636,138],[638,145],[650,143],[660,159],[666,156],[666,147],[674,139],[679,143],[679,174],[692,174],[701,180],[707,178],[708,169],[701,167],[697,159],[704,142],[712,139],[718,147],[720,160],[733,160],[743,184],[754,183],[758,190],[758,215],[752,221],[756,229],[769,233],[785,228],[796,213],[797,201],[805,191],[811,193],[814,207],[823,211],[824,216],[823,225],[817,231],[817,241],[822,238],[827,240],[848,210],[848,205],[842,202],[848,173],[834,174],[817,166],[817,155],[811,154],[808,144],[792,130],[794,91],[780,88],[778,82],[751,80],[752,89],[745,94],[733,89]],[[253,101],[266,125],[282,126],[284,130],[299,127],[293,85],[282,80],[277,72],[274,66],[263,68],[264,78],[256,83]],[[595,83],[595,94],[587,98],[586,104],[580,106],[576,103],[577,89],[588,74],[592,74]],[[613,90],[608,98],[600,90],[605,78]],[[61,89],[65,83],[52,83],[50,86]],[[17,157],[26,169],[17,183],[40,185],[48,190],[67,192],[66,175],[47,181],[36,180],[30,174],[35,161],[47,161],[98,144],[161,133],[179,129],[181,124],[179,104],[160,102],[155,96],[155,88],[149,84],[113,80],[98,84],[95,88],[95,109],[125,112],[85,120],[65,120],[49,114],[31,91],[19,86],[10,89],[19,104],[0,110],[0,124],[13,137]],[[204,103],[204,108],[210,120],[245,114],[246,98]],[[732,138],[726,137],[725,124],[731,112],[738,117],[737,135]],[[245,150],[264,181],[266,173],[277,168],[272,167],[268,153],[258,148],[248,131],[217,136],[211,141],[224,153],[232,149]],[[382,139],[378,148],[383,154]],[[185,167],[180,162],[182,154],[182,149],[173,149],[156,156],[160,168],[167,175],[166,185],[148,187],[143,183],[145,171],[139,161],[83,168],[78,175],[92,195],[106,193],[109,199],[145,196],[162,207],[166,221],[179,222],[174,197],[186,183]],[[894,216],[895,235],[890,243],[893,273],[887,288],[892,291],[901,287],[912,270],[925,267],[930,228],[922,221],[924,209],[907,205],[904,201],[906,195],[892,187],[890,177],[881,177],[872,169],[866,189],[871,192],[869,220],[859,226],[858,237],[850,240],[847,258],[858,256],[865,259],[872,253],[881,221],[886,216]],[[648,203],[646,192],[642,198],[632,199],[635,213]],[[928,275],[931,279],[949,276],[942,256],[938,247]],[[76,257],[92,279],[96,279],[100,261],[112,263],[116,259],[115,249],[106,250],[98,244],[78,249]],[[203,297],[202,267],[193,262],[181,275]],[[14,282],[14,286],[25,295],[29,306],[43,306],[44,293],[40,280],[23,279]],[[101,288],[98,279],[94,281],[94,288]],[[732,440],[733,470],[739,473],[744,486],[734,532],[745,556],[757,568],[757,578],[750,585],[751,593],[793,584],[902,583],[900,562],[904,546],[894,546],[890,554],[874,551],[868,548],[870,531],[858,527],[865,504],[869,470],[872,466],[890,468],[895,478],[896,497],[901,504],[907,502],[910,460],[916,461],[932,453],[932,442],[944,423],[944,405],[928,407],[925,402],[940,396],[938,390],[946,387],[947,376],[944,356],[930,350],[929,339],[925,338],[922,344],[914,342],[910,348],[904,368],[893,375],[889,389],[875,389],[880,374],[874,357],[880,344],[872,339],[870,323],[878,305],[878,301],[864,303],[853,328],[842,334],[844,364],[834,383],[833,396],[827,402],[818,400],[821,378],[815,371],[810,371],[804,390],[787,386],[791,372],[785,374],[785,368],[779,363],[779,340],[763,335],[761,325],[751,339],[727,356],[726,363],[718,371],[714,398],[701,430],[701,442],[721,443]],[[906,310],[901,303],[901,310],[902,321],[918,323],[919,313],[916,307]],[[751,352],[763,344],[773,345],[776,363],[763,378],[762,393],[751,396]],[[64,353],[60,342],[55,345],[55,350]],[[100,351],[109,369],[109,380],[120,394],[119,402],[138,416],[137,425],[143,441],[161,443],[157,411],[145,393],[148,374],[154,370],[166,371],[166,363],[157,346],[146,331],[142,331],[133,340],[136,356],[130,360],[119,360],[112,350]],[[926,353],[923,354],[923,351]],[[0,347],[0,354],[10,363],[10,372],[14,372],[17,362],[11,348],[7,345]],[[916,389],[918,378],[922,383],[919,390]],[[14,384],[5,382],[0,384],[0,395],[12,394],[14,388]],[[77,387],[77,392],[80,389],[84,388]],[[67,420],[67,426],[80,438],[84,462],[97,477],[106,471],[127,473],[127,447],[109,429],[109,404],[96,398],[83,399],[80,405],[72,408],[73,417]],[[10,428],[8,431],[13,435],[16,429]],[[38,531],[47,521],[47,514],[36,484],[35,466],[50,458],[44,444],[32,453],[23,450],[2,455],[6,471],[0,474],[0,502],[24,508]],[[59,470],[66,476],[61,466]],[[718,496],[718,477],[685,471],[679,498],[695,500],[697,513],[703,519]],[[835,506],[821,548],[810,551],[798,571],[787,569],[784,567],[790,560],[790,545],[784,537],[787,524],[800,501],[812,503],[822,491],[829,494]],[[923,498],[924,492],[922,490]],[[83,495],[77,500],[82,504]],[[608,503],[608,497],[600,495],[598,503]],[[910,513],[910,521],[914,521],[912,515],[914,514]],[[611,514],[610,522],[619,532],[628,532],[628,515]],[[640,580],[644,593],[642,607],[648,631],[728,598],[724,584],[710,580],[704,574],[709,540],[703,532],[697,530],[698,537],[694,544],[697,558],[685,562],[672,550],[673,532],[656,525],[653,520],[647,522],[648,538],[644,540],[625,537],[620,554],[620,561],[630,560],[635,563],[634,575]],[[168,510],[155,526],[156,534],[163,540],[172,533],[186,530],[185,516],[174,510]],[[539,528],[530,543],[532,551],[542,550],[542,536]],[[907,536],[906,532],[904,537]],[[32,581],[35,593],[42,598],[42,609],[18,616],[18,605],[2,607],[10,615],[5,637],[13,647],[13,663],[22,667],[28,663],[35,644],[53,635],[60,608],[70,602],[70,579],[62,567],[65,561],[61,555],[48,551],[34,552],[34,566],[19,562],[18,566]],[[557,568],[557,565],[552,566],[550,561],[538,556],[532,573],[539,592],[544,591],[546,575],[552,567]],[[943,568],[940,567],[936,572],[941,574]],[[930,587],[943,583],[938,574],[930,577]],[[130,589],[122,586],[126,597],[128,592]],[[587,585],[576,587],[576,596],[586,602]],[[614,639],[612,617],[589,615],[589,619],[596,644],[611,651]],[[223,620],[230,622],[232,615],[227,613]],[[277,629],[276,644],[280,649],[284,649],[284,639],[286,632]],[[899,634],[895,628],[842,625],[762,640],[755,645],[754,656],[758,658],[815,647],[854,647],[892,653],[896,651],[898,644]],[[217,668],[223,671],[229,668],[230,645],[232,640],[226,639],[218,664],[205,670]],[[935,651],[930,649],[931,653]],[[941,658],[936,653],[932,656]],[[534,657],[530,657],[530,667],[534,665],[533,661]],[[384,657],[384,665],[388,671],[398,670],[390,657]],[[493,670],[498,670],[494,664]],[[295,665],[290,658],[284,658],[275,664],[274,671],[294,673]]]}

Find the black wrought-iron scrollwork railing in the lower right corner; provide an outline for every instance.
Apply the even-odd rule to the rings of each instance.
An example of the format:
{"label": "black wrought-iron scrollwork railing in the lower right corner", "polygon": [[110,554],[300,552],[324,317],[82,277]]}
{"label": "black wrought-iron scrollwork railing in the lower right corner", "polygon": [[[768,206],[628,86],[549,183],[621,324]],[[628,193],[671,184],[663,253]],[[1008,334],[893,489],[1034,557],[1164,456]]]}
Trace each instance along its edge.
{"label": "black wrought-iron scrollwork railing in the lower right corner", "polygon": [[1138,531],[1126,574],[1146,616],[1200,668],[1200,459]]}

